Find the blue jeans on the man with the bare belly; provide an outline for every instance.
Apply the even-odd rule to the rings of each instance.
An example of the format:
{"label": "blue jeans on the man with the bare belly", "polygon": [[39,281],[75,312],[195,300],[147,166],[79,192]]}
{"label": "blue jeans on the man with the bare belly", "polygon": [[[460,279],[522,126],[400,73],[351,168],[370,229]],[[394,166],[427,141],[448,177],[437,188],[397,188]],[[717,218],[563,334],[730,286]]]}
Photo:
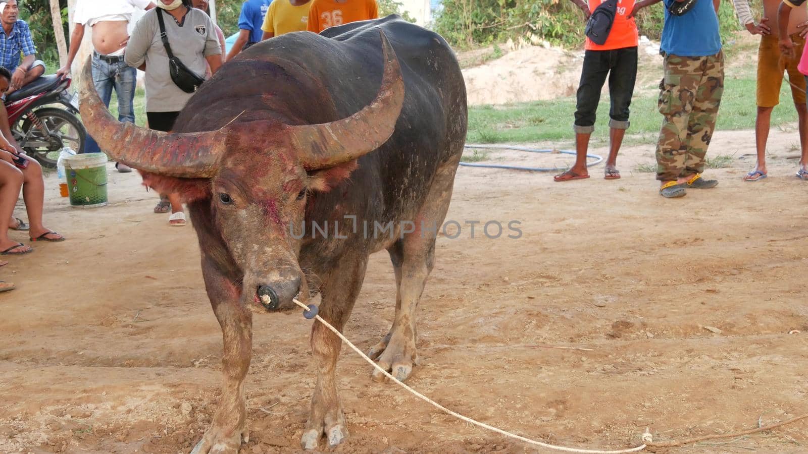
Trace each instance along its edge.
{"label": "blue jeans on the man with the bare belly", "polygon": [[[98,53],[93,53],[93,82],[95,90],[104,105],[109,107],[112,99],[112,89],[118,96],[118,121],[129,123],[135,122],[135,109],[133,102],[135,99],[135,85],[137,83],[137,69],[126,65],[124,61],[110,63],[99,58]],[[100,153],[101,148],[90,134],[84,145],[84,153]]]}

